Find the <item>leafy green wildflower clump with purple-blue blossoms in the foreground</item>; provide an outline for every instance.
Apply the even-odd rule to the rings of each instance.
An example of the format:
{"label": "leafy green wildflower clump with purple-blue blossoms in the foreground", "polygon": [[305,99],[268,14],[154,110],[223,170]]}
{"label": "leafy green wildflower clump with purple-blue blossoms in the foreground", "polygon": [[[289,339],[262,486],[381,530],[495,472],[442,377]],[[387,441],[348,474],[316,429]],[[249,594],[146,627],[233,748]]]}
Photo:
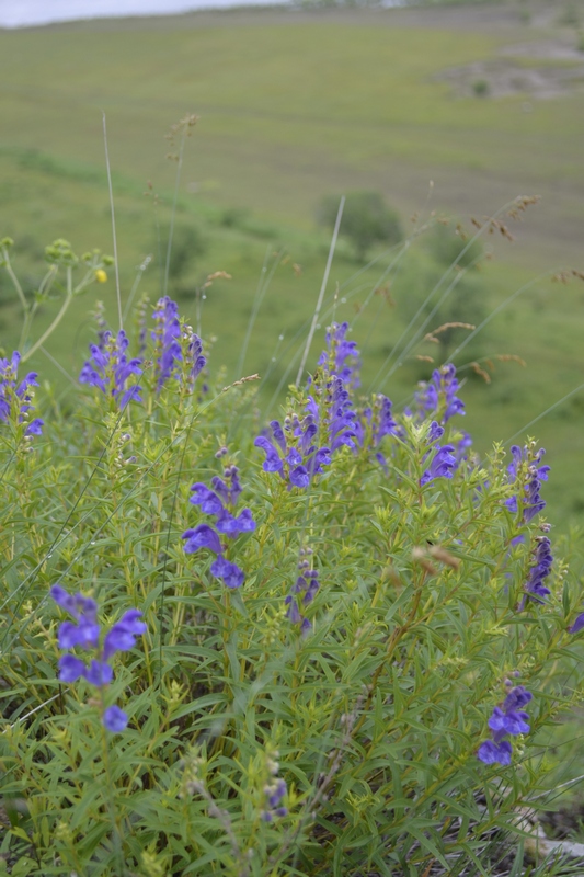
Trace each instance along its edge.
{"label": "leafy green wildflower clump with purple-blue blossoms in the foreground", "polygon": [[0,854],[492,873],[581,697],[580,561],[542,517],[542,452],[480,460],[451,364],[410,410],[360,395],[346,323],[262,422],[256,376],[214,383],[170,298],[138,309],[136,335],[102,319],[67,411],[1,363]]}

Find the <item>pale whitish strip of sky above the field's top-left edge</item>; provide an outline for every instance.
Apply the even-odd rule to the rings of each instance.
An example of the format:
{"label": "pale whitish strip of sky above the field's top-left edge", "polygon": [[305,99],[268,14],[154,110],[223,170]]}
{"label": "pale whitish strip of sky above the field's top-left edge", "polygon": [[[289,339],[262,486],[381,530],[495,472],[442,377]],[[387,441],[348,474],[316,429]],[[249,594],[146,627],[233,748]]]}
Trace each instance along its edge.
{"label": "pale whitish strip of sky above the field's top-left edge", "polygon": [[273,0],[0,0],[0,27],[110,15],[163,15]]}

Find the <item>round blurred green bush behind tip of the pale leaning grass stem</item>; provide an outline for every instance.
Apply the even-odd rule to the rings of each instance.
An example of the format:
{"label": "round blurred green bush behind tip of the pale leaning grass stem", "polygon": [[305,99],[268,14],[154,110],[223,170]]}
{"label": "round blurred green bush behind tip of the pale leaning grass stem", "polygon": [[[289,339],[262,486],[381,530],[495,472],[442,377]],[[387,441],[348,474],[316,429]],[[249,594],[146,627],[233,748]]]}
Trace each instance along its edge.
{"label": "round blurred green bush behind tip of the pale leaning grass stem", "polygon": [[[340,201],[340,195],[322,198],[317,212],[321,225],[334,228]],[[360,261],[365,260],[374,243],[391,247],[403,238],[398,214],[378,192],[350,192],[346,195],[340,231],[351,240]]]}

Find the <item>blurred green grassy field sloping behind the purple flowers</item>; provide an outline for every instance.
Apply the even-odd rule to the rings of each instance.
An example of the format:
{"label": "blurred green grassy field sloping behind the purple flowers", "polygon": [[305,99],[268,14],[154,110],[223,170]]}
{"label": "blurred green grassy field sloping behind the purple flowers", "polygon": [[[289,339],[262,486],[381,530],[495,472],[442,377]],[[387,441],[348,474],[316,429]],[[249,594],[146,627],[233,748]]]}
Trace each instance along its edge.
{"label": "blurred green grassy field sloping behind the purple flowers", "polygon": [[[515,243],[497,240],[495,259],[469,286],[469,296],[486,311],[542,272],[584,267],[582,86],[575,81],[549,100],[522,88],[506,98],[480,99],[461,96],[439,78],[456,68],[458,79],[472,84],[472,65],[496,66],[499,53],[511,47],[513,55],[526,43],[547,46],[547,55],[519,52],[518,68],[580,69],[577,30],[558,21],[560,7],[264,10],[0,31],[0,236],[20,242],[16,265],[28,289],[41,270],[43,246],[56,237],[71,240],[78,252],[92,247],[111,252],[104,111],[123,295],[136,266],[152,253],[139,291],[156,300],[161,289],[156,225],[164,238],[176,170],[163,135],[185,113],[196,113],[178,224],[196,227],[206,249],[181,281],[181,307],[195,319],[197,285],[216,270],[232,275],[209,291],[203,332],[217,335],[213,360],[234,375],[259,280],[278,263],[243,363],[245,372],[267,373],[265,409],[286,383],[286,364],[318,295],[329,238],[314,227],[313,214],[327,193],[379,190],[412,230],[413,212],[421,213],[419,225],[432,210],[457,214],[469,225],[471,215],[491,214],[518,194],[541,195],[522,225],[509,223]],[[148,180],[160,196],[158,206],[144,195]],[[425,240],[414,241],[393,267],[392,254],[376,251],[379,261],[367,271],[344,241],[337,248],[329,304],[339,283],[336,317],[354,321],[366,387],[379,369],[383,379],[388,375],[390,364],[383,362],[415,312],[412,301],[420,301],[443,271]],[[391,299],[371,295],[386,271]],[[18,308],[5,282],[0,294],[8,349],[18,338]],[[71,375],[91,338],[88,311],[95,297],[106,300],[115,321],[113,283],[93,287],[49,345]],[[49,318],[47,310],[41,324]],[[428,328],[442,321],[438,311]],[[470,356],[460,354],[460,365],[496,353],[514,353],[527,363],[525,368],[495,363],[490,385],[470,369],[461,373],[472,376],[465,390],[465,425],[481,452],[582,383],[583,329],[582,283],[541,278],[490,323]],[[402,350],[403,344],[394,352],[398,362]],[[437,352],[426,343],[403,357],[383,386],[397,403],[432,367],[415,354]],[[45,358],[34,365],[43,375],[59,375]],[[550,517],[562,528],[584,510],[584,483],[575,477],[583,417],[576,395],[530,430],[548,448]]]}

